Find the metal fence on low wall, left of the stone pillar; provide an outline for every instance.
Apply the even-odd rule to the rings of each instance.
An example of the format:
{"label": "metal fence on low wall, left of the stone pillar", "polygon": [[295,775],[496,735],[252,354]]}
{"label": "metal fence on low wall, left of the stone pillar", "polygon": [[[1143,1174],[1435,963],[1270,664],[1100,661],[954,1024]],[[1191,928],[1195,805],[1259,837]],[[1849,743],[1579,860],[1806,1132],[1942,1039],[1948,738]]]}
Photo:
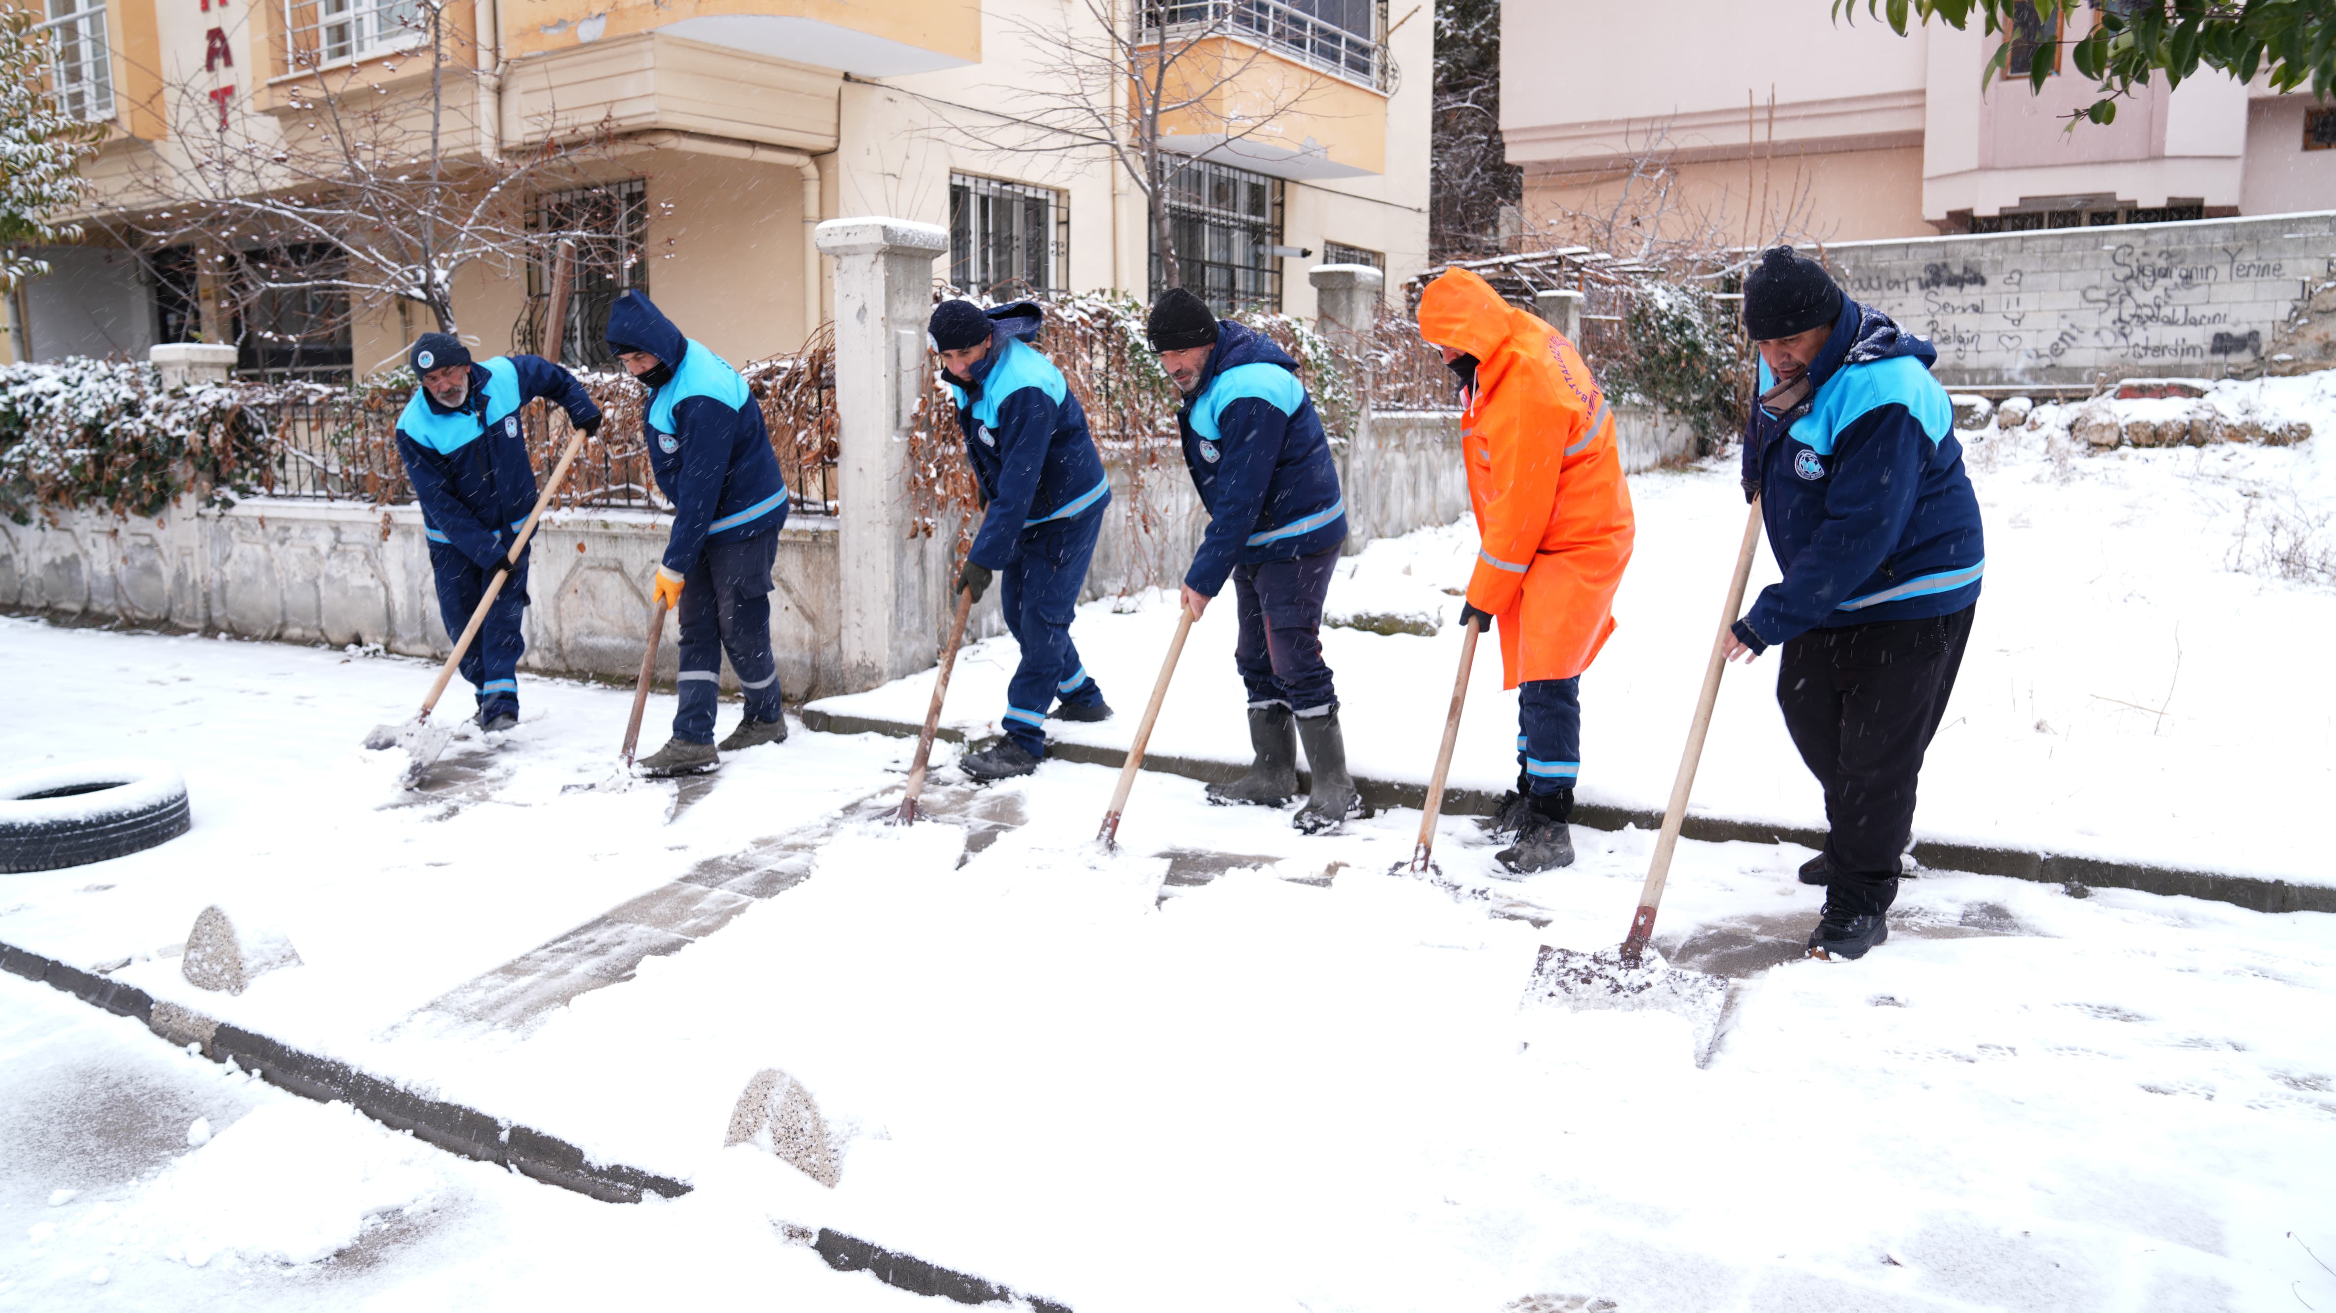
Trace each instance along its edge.
{"label": "metal fence on low wall, left of the stone pillar", "polygon": [[[836,512],[834,339],[822,327],[811,350],[750,362],[741,374],[762,404],[771,451],[787,479],[794,514]],[[586,437],[554,507],[670,512],[649,474],[640,411],[645,390],[619,374],[579,374],[603,423]],[[266,432],[271,460],[262,491],[273,498],[404,505],[413,500],[397,458],[404,388],[271,388],[245,404]],[[575,430],[549,402],[521,409],[528,460],[537,479],[558,463]]]}

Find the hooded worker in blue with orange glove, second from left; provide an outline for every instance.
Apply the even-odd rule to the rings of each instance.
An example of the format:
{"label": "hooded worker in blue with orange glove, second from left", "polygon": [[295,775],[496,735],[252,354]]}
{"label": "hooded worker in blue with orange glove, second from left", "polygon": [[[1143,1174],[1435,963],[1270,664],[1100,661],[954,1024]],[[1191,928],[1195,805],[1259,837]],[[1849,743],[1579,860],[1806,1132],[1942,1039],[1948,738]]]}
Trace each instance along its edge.
{"label": "hooded worker in blue with orange glove, second from left", "polygon": [[[607,348],[649,388],[649,474],[673,502],[652,589],[682,626],[680,710],[673,741],[640,766],[652,776],[712,771],[719,752],[787,738],[771,652],[771,565],[787,523],[787,481],[745,378],[705,343],[684,339],[647,297],[617,297]],[[745,692],[745,720],[717,752],[724,652]]]}

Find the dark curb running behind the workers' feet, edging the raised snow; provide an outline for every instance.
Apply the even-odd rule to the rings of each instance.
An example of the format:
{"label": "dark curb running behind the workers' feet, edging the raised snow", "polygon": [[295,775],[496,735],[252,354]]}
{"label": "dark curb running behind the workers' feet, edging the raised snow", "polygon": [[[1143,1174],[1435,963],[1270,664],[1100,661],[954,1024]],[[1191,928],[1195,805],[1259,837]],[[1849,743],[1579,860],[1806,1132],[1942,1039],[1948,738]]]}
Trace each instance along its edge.
{"label": "dark curb running behind the workers' feet, edging the raised snow", "polygon": [[[895,738],[916,738],[923,734],[923,724],[904,724],[897,720],[876,720],[867,715],[836,715],[820,708],[806,706],[801,710],[804,729],[815,729],[822,734],[890,734]],[[955,729],[941,729],[939,738],[951,743],[962,743],[965,734]],[[1086,743],[1049,743],[1049,757],[1063,762],[1082,762],[1089,766],[1112,766],[1126,764],[1128,755],[1119,748],[1093,748]],[[1240,776],[1240,766],[1233,762],[1203,762],[1196,757],[1166,757],[1156,752],[1145,755],[1147,771],[1161,771],[1166,776],[1184,776],[1189,780],[1203,783],[1231,783]],[[1427,806],[1425,785],[1404,785],[1395,780],[1371,780],[1355,776],[1355,790],[1362,801],[1374,808],[1388,806]],[[1493,815],[1493,806],[1500,801],[1497,794],[1483,790],[1446,790],[1444,813],[1446,815]],[[1621,829],[1624,825],[1635,825],[1640,829],[1661,829],[1661,811],[1642,811],[1628,806],[1602,806],[1602,804],[1577,804],[1574,822],[1588,825],[1591,829]],[[1743,820],[1729,815],[1696,815],[1687,813],[1687,822],[1680,825],[1680,834],[1687,839],[1701,839],[1705,843],[1780,843],[1792,841],[1803,848],[1824,848],[1824,832],[1803,825],[1775,825],[1766,820]],[[1986,843],[1944,843],[1944,841],[1918,841],[1913,846],[1913,860],[1927,869],[1937,871],[1967,871],[1974,876],[2011,876],[2018,881],[2037,881],[2046,885],[2093,885],[2109,890],[2140,890],[2170,897],[2203,897],[2212,902],[2229,902],[2233,906],[2245,906],[2250,911],[2336,911],[2336,888],[2331,885],[2301,885],[2292,881],[2271,881],[2261,876],[2231,876],[2222,871],[2198,871],[2182,867],[2144,867],[2135,862],[2112,862],[2105,857],[2077,857],[2070,853],[2049,853],[2042,848],[1995,848]]]}

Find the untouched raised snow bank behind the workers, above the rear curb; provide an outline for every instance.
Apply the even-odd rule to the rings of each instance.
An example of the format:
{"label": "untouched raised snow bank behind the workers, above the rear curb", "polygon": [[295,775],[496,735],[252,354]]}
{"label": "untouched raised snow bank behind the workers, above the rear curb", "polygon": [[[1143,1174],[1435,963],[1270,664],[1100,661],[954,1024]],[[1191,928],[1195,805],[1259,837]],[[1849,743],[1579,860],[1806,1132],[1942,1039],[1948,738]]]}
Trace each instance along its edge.
{"label": "untouched raised snow bank behind the workers, above the rear curb", "polygon": [[[2331,437],[2093,456],[2051,425],[1965,435],[1988,579],[1923,771],[1918,836],[2336,883],[2322,836],[2301,822],[2336,794],[2336,682],[2310,656],[2336,647],[2336,376],[2257,388],[2271,383],[2285,388],[2266,414],[2317,414]],[[1635,474],[1631,495],[1638,551],[1619,628],[1581,678],[1581,797],[1661,811],[1745,505],[1731,463]],[[1474,561],[1474,526],[1458,523],[1374,542],[1341,565],[1334,621],[1444,624],[1434,638],[1325,631],[1357,773],[1425,783],[1460,652],[1448,589]],[[1761,547],[1752,589],[1773,579]],[[1049,734],[1124,748],[1173,628],[1166,593],[1082,607],[1072,638],[1121,715]],[[1231,649],[1233,610],[1210,607],[1154,752],[1247,759]],[[967,649],[948,724],[995,734],[1014,661],[1011,638]],[[932,678],[913,675],[818,706],[913,724],[930,696]],[[1453,785],[1507,787],[1514,734],[1516,694],[1486,647]],[[1773,656],[1729,671],[1696,808],[1822,829],[1822,797],[1775,710]]]}

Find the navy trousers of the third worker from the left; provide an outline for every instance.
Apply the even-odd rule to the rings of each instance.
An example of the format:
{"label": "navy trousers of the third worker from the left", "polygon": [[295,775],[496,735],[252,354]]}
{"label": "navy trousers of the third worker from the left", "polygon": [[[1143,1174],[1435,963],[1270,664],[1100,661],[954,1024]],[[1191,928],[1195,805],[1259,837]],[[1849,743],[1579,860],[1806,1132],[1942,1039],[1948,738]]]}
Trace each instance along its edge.
{"label": "navy trousers of the third worker from the left", "polygon": [[1033,757],[1047,755],[1047,713],[1056,699],[1065,706],[1103,699],[1070,642],[1070,617],[1079,610],[1086,563],[1096,558],[1100,535],[1103,507],[1026,528],[1021,556],[997,572],[997,605],[1023,652],[1007,685],[1007,715],[1000,724]]}

